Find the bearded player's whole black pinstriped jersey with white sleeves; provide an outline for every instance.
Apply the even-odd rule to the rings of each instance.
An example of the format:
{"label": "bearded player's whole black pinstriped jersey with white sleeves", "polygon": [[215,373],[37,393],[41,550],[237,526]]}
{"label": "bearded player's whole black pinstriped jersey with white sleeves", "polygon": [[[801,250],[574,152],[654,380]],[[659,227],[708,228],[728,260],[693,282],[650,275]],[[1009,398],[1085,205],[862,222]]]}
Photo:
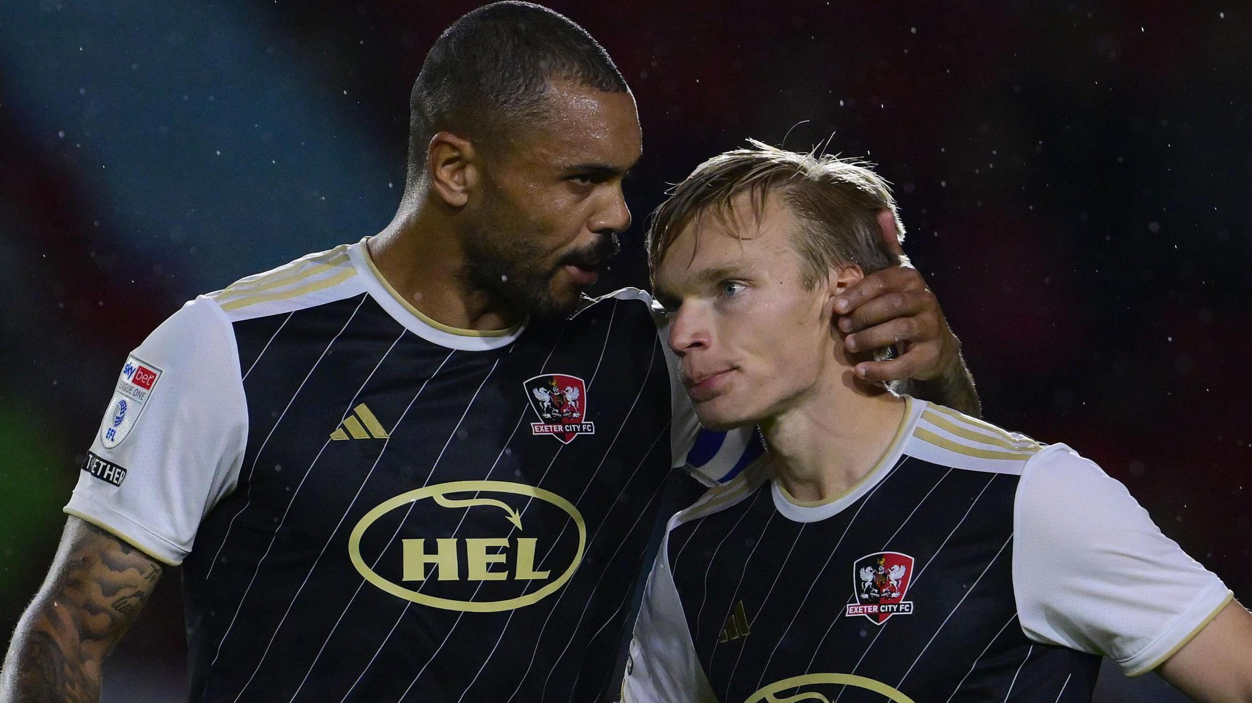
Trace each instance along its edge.
{"label": "bearded player's whole black pinstriped jersey with white sleeves", "polygon": [[657,331],[632,289],[458,330],[309,255],[134,350],[66,512],[183,564],[193,700],[598,699],[667,472],[752,452]]}

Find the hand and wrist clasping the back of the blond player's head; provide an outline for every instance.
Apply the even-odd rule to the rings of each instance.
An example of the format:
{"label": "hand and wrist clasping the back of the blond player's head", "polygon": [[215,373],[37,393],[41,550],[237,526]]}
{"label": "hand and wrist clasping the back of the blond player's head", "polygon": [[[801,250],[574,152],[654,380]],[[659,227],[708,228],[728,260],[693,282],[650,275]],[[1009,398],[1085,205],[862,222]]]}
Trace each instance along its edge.
{"label": "hand and wrist clasping the back of the blond player's head", "polygon": [[[895,215],[878,216],[883,240],[903,256]],[[869,274],[835,299],[839,330],[849,352],[896,345],[900,355],[856,364],[858,377],[879,383],[908,382],[901,390],[982,415],[974,379],[960,357],[960,340],[948,329],[939,300],[916,269],[901,265]]]}

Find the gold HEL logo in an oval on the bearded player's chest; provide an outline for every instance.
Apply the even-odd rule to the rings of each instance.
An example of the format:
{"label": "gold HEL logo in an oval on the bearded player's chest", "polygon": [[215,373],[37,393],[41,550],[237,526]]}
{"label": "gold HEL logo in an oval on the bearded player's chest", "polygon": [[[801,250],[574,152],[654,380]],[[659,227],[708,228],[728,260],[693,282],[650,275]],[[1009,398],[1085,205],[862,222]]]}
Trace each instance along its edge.
{"label": "gold HEL logo in an oval on the bearded player's chest", "polygon": [[[452,495],[458,497],[452,498]],[[522,513],[505,498],[511,498],[523,509],[532,503],[532,510],[535,507],[548,505],[552,509],[552,515],[546,515],[548,519],[540,523],[546,528],[551,528],[553,523],[560,525],[562,513],[565,520],[573,523],[577,528],[577,547],[573,549],[568,567],[563,570],[541,568],[540,562],[543,558],[558,553],[555,549],[556,544],[542,537],[523,537]],[[525,500],[520,498],[525,498]],[[429,502],[424,502],[426,499]],[[399,515],[401,527],[403,527],[404,518],[414,508],[422,510],[421,519],[414,520],[422,525],[439,522],[439,515],[432,510],[447,509],[458,512],[456,520],[451,523],[457,525],[456,529],[459,529],[464,522],[472,527],[495,524],[493,529],[498,529],[500,534],[458,537],[453,529],[449,537],[402,538],[399,549],[389,549],[392,542],[388,540],[381,554],[367,563],[362,555],[361,544],[363,539],[367,539],[367,530],[378,520],[383,520],[388,525],[394,524],[396,517],[388,517],[388,514],[401,508],[406,508]],[[476,514],[466,515],[461,513],[462,510],[472,510]],[[466,518],[473,519],[467,520]],[[389,528],[379,532],[389,532]],[[565,532],[562,528],[561,534]],[[515,533],[517,534],[515,535]],[[557,539],[561,534],[557,535]],[[567,542],[572,542],[572,537]],[[495,613],[531,605],[565,585],[582,563],[586,543],[587,527],[582,514],[573,504],[552,492],[501,480],[458,480],[402,493],[366,513],[348,537],[348,557],[366,580],[398,598],[446,610]],[[536,557],[537,552],[542,552],[542,555]],[[565,552],[567,553],[570,549],[566,548]],[[387,562],[383,562],[384,559]],[[381,562],[383,562],[383,567],[379,567]],[[563,564],[565,559],[560,559],[560,563]],[[384,568],[387,565],[393,567],[388,573],[394,580],[379,573],[379,570],[387,570]],[[397,565],[398,569],[394,568]],[[482,582],[505,582],[502,584],[505,587],[515,585],[512,590],[501,593],[500,598],[492,599],[491,593],[488,593],[482,600],[476,600],[471,594],[476,594],[477,588],[467,592],[466,595],[471,595],[471,598],[466,599],[422,593],[426,584],[431,582],[453,582],[449,584],[453,587],[464,582],[477,582],[478,585]],[[522,585],[520,594],[516,584]],[[538,588],[531,592],[531,584],[536,584]],[[408,588],[408,585],[413,585],[413,588]]]}

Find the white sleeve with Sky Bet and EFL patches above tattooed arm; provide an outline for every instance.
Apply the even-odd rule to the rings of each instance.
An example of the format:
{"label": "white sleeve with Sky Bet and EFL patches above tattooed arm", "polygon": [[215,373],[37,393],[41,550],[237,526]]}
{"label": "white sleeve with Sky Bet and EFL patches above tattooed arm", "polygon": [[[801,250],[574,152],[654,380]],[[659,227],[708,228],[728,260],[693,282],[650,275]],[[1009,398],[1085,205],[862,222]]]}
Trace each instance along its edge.
{"label": "white sleeve with Sky Bet and EFL patches above tattooed arm", "polygon": [[234,329],[197,298],[126,358],[65,512],[182,563],[234,488],[247,435]]}

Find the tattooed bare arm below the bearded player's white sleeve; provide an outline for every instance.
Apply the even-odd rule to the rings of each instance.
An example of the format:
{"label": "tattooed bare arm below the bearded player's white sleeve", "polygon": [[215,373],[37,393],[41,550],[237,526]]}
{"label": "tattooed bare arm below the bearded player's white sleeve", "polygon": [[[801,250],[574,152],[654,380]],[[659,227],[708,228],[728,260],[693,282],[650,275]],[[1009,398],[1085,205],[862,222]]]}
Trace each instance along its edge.
{"label": "tattooed bare arm below the bearded player's white sleeve", "polygon": [[14,633],[0,702],[100,699],[100,665],[148,600],[163,567],[71,517],[56,558]]}

